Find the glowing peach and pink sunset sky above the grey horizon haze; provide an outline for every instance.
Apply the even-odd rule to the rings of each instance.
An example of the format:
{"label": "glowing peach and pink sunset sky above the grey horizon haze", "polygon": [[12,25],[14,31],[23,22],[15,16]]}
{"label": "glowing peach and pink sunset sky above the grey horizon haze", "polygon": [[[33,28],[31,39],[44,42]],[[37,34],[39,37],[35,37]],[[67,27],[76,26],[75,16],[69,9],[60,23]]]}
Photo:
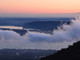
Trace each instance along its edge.
{"label": "glowing peach and pink sunset sky above the grey horizon haze", "polygon": [[0,16],[79,13],[79,6],[80,0],[1,0]]}

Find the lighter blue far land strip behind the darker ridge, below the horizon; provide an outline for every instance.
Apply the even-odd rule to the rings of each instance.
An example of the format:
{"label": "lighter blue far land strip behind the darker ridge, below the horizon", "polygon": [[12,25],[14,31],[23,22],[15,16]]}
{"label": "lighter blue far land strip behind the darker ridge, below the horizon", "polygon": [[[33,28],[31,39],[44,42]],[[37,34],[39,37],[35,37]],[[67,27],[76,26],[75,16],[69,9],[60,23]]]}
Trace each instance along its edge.
{"label": "lighter blue far land strip behind the darker ridge, below the horizon", "polygon": [[75,18],[0,18],[0,26],[23,26],[34,21],[70,21]]}

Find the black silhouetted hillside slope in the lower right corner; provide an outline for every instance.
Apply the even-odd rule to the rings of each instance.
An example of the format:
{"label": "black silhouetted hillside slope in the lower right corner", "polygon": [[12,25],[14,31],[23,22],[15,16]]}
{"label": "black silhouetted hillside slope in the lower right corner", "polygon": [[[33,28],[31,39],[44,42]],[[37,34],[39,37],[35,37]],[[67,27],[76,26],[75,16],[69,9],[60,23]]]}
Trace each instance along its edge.
{"label": "black silhouetted hillside slope in the lower right corner", "polygon": [[40,60],[80,60],[80,41]]}

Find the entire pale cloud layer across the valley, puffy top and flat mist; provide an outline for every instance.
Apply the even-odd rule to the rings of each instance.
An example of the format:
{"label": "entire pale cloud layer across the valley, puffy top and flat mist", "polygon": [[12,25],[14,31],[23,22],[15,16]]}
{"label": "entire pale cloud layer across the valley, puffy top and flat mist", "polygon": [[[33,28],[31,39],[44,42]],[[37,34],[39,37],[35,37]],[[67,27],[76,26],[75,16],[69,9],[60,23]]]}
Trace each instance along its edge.
{"label": "entire pale cloud layer across the valley, puffy top and flat mist", "polygon": [[54,30],[53,34],[28,32],[20,36],[13,31],[0,31],[0,48],[61,49],[80,40],[80,20]]}

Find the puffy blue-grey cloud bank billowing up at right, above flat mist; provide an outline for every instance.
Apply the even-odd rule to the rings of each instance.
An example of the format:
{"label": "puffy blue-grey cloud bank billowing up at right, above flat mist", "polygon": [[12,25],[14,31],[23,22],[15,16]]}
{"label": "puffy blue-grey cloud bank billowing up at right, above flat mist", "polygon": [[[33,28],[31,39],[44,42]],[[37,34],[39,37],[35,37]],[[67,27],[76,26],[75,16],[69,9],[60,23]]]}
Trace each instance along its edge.
{"label": "puffy blue-grey cloud bank billowing up at right, above flat mist", "polygon": [[29,32],[28,40],[31,42],[63,42],[63,41],[78,41],[80,40],[80,20],[72,20],[70,25],[63,25],[63,28],[54,30],[52,35],[44,33]]}

